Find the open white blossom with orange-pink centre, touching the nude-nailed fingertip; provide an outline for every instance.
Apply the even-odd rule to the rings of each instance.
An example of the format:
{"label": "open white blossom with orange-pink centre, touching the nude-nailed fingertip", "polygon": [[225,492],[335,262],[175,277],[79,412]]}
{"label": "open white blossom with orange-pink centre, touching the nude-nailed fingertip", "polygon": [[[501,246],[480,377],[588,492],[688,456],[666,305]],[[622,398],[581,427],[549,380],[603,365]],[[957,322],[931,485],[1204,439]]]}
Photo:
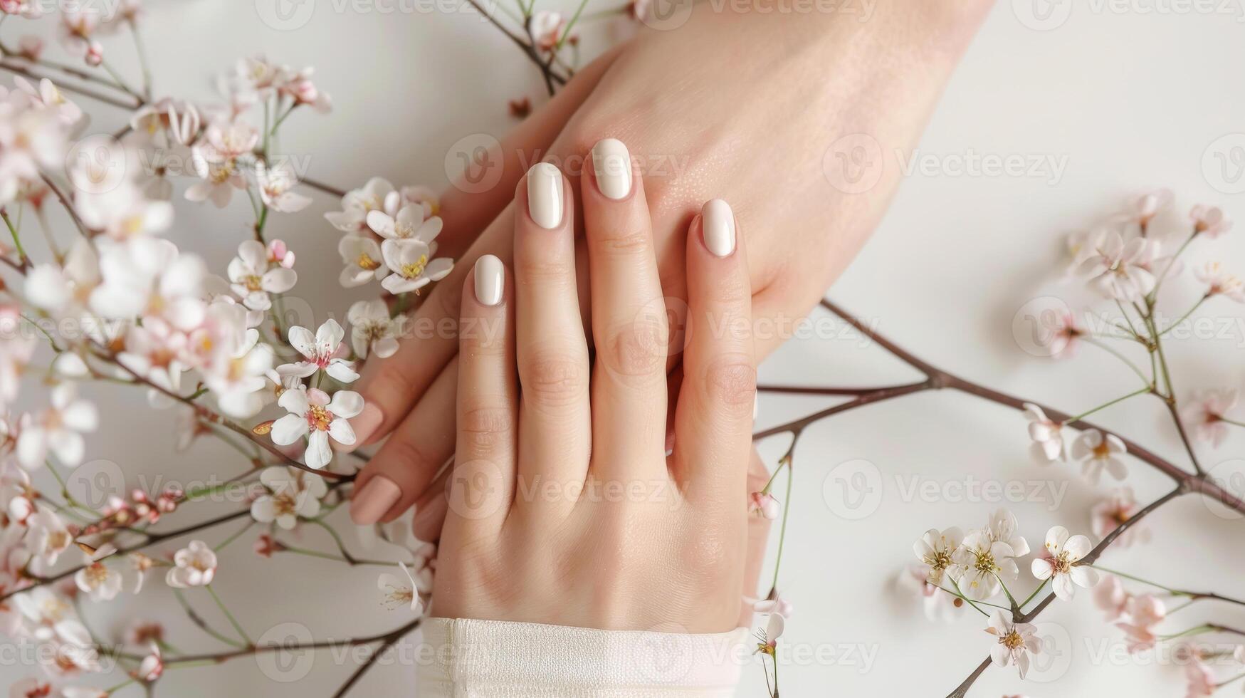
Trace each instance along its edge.
{"label": "open white blossom with orange-pink centre, touching the nude-nailed fingertip", "polygon": [[286,390],[278,404],[290,414],[273,424],[273,442],[288,446],[308,436],[306,464],[320,470],[332,461],[329,437],[344,445],[355,442],[355,430],[346,421],[364,409],[359,393],[339,390],[329,399],[324,390]]}

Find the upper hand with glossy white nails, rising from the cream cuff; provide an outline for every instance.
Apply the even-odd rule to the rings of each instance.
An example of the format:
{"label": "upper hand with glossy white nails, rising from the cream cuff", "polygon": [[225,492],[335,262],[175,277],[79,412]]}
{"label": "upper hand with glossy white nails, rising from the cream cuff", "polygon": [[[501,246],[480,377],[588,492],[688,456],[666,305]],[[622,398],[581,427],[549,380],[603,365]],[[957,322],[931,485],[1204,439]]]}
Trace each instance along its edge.
{"label": "upper hand with glossy white nails, rising from the cream cuff", "polygon": [[456,464],[432,613],[707,633],[738,622],[754,358],[743,239],[690,224],[684,380],[666,455],[667,322],[639,170],[603,141],[580,181],[591,335],[575,293],[574,188],[519,184],[513,279],[463,282]]}

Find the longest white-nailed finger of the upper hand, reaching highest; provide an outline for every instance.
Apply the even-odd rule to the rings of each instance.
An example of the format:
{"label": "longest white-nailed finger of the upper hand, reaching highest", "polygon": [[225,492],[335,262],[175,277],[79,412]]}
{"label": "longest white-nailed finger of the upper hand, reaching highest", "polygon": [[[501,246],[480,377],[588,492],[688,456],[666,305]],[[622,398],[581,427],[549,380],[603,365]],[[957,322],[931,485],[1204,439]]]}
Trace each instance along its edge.
{"label": "longest white-nailed finger of the upper hand, reaching highest", "polygon": [[665,476],[669,328],[644,182],[620,141],[598,142],[591,160],[580,198],[596,348],[593,446],[610,454],[599,475]]}

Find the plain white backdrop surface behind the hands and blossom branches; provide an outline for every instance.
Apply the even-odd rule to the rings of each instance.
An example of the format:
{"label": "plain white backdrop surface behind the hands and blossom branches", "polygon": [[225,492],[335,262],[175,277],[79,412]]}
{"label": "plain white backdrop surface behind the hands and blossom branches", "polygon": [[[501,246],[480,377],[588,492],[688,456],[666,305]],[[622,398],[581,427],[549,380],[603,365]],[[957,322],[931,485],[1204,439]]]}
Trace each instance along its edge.
{"label": "plain white backdrop surface behind the hands and blossom branches", "polygon": [[[1028,2],[1018,5],[1025,10]],[[1142,191],[1157,186],[1177,191],[1178,211],[1163,223],[1167,227],[1183,229],[1194,203],[1219,204],[1234,218],[1245,216],[1241,196],[1231,193],[1238,181],[1208,177],[1203,166],[1208,146],[1218,138],[1238,133],[1238,148],[1245,141],[1240,136],[1245,132],[1240,91],[1245,10],[1233,2],[1224,7],[1229,14],[1199,11],[1158,0],[1123,7],[1056,5],[1057,12],[1071,9],[1071,16],[1056,15],[1066,20],[1045,31],[1020,21],[1018,16],[1030,15],[1017,14],[1012,2],[994,9],[942,97],[920,151],[940,158],[970,152],[1053,157],[1066,163],[1062,174],[1055,178],[1046,170],[1037,177],[909,176],[885,221],[830,297],[936,365],[1076,413],[1130,390],[1134,376],[1092,347],[1063,363],[1031,356],[1013,339],[1012,318],[1035,297],[1058,295],[1073,304],[1091,299],[1078,284],[1059,280],[1063,236]],[[370,6],[375,7],[362,5]],[[345,188],[372,174],[396,183],[444,186],[443,160],[451,143],[468,133],[503,133],[513,123],[508,98],[528,95],[540,101],[543,88],[534,67],[478,16],[357,7],[316,2],[305,26],[280,31],[265,25],[250,1],[152,1],[146,39],[154,57],[157,93],[210,98],[209,77],[256,50],[295,67],[316,66],[317,82],[332,93],[335,111],[291,118],[283,146],[310,155],[311,176]],[[6,22],[6,41],[15,41],[17,24]],[[37,26],[47,34],[51,22]],[[588,39],[585,54],[599,51],[601,41],[601,36]],[[108,47],[110,57],[136,75],[127,41],[112,39]],[[91,108],[98,115],[92,131],[122,122],[117,110]],[[886,167],[899,166],[894,153],[885,157]],[[1213,153],[1208,157],[1214,165]],[[178,199],[183,188],[178,183]],[[284,238],[299,254],[299,295],[341,318],[349,302],[364,294],[336,288],[339,233],[321,218],[335,203],[316,194],[304,213],[274,216],[269,234]],[[248,236],[245,201],[235,198],[224,213],[182,201],[177,207],[173,237],[183,247],[202,251],[223,270],[237,242]],[[1243,234],[1200,242],[1189,258],[1199,263],[1219,258],[1245,272]],[[1163,305],[1169,317],[1183,312],[1199,293],[1188,275],[1170,285]],[[1245,313],[1220,300],[1199,315],[1224,323],[1228,330],[1218,339],[1169,343],[1180,395],[1194,388],[1240,388]],[[761,375],[767,383],[825,385],[916,378],[858,335],[791,342],[762,366]],[[239,467],[229,460],[230,451],[208,444],[171,457],[171,415],[149,416],[133,393],[95,395],[103,399],[106,433],[91,440],[90,457],[122,464],[131,485],[139,484],[139,474],[147,474],[152,484],[158,474],[184,480],[233,474]],[[825,404],[763,396],[758,426]],[[1157,400],[1138,399],[1097,419],[1178,464],[1186,462]],[[784,447],[783,437],[763,444],[771,465]],[[1245,437],[1240,435],[1219,450],[1201,451],[1208,466],[1241,456]],[[865,500],[864,509],[849,510],[842,505],[842,491],[835,489],[839,480],[833,475],[843,475],[845,470],[835,467],[857,459],[868,460],[876,477],[868,481],[872,489],[857,492],[873,499]],[[837,659],[784,666],[784,696],[946,694],[986,656],[991,638],[982,632],[984,619],[965,610],[952,624],[933,624],[915,598],[896,592],[893,580],[911,561],[911,543],[925,528],[980,526],[1000,505],[957,496],[952,489],[969,479],[1037,482],[1046,501],[1002,502],[1017,514],[1021,532],[1033,546],[1041,545],[1046,528],[1056,522],[1088,532],[1088,509],[1108,489],[1106,484],[1088,486],[1073,466],[1032,465],[1018,413],[950,393],[905,398],[822,423],[804,435],[796,464],[798,481],[788,502],[793,514],[781,587],[797,613],[783,639],[793,647],[822,648],[823,657],[835,652]],[[1223,470],[1233,467],[1226,464]],[[914,481],[935,482],[949,496],[905,501],[904,492]],[[1052,511],[1050,492],[1064,482],[1061,506]],[[1128,484],[1143,501],[1168,485],[1132,460]],[[197,506],[200,511],[184,512],[183,521],[214,515],[214,505]],[[238,505],[217,506],[223,512]],[[1177,587],[1243,593],[1240,521],[1186,497],[1162,510],[1148,527],[1152,542],[1111,552],[1103,563]],[[235,528],[213,531],[207,540],[219,541]],[[213,585],[253,634],[288,621],[305,624],[316,638],[383,632],[403,622],[402,612],[377,603],[375,568],[351,570],[291,556],[261,562],[249,551],[253,537],[250,532],[227,550]],[[321,531],[306,531],[304,545],[331,550]],[[1027,570],[1027,560],[1021,567]],[[1022,572],[1023,593],[1031,588],[1026,578]],[[205,595],[192,598],[215,624],[224,626]],[[1239,622],[1240,616],[1233,608],[1199,605],[1182,611],[1164,628],[1175,632],[1211,618]],[[101,632],[118,632],[133,617],[172,619],[169,639],[178,647],[219,649],[181,619],[158,582],[138,600],[90,608],[88,617]],[[1068,639],[1056,647],[1058,666],[1064,668],[1047,672],[1045,683],[1022,683],[1011,668],[991,668],[974,694],[1183,694],[1179,668],[1120,658],[1122,633],[1101,621],[1088,593],[1052,606],[1042,619],[1066,631]],[[1055,634],[1059,636],[1058,628]],[[844,654],[849,647],[852,653]],[[862,652],[873,657],[872,663],[864,662]],[[350,658],[321,652],[306,678],[273,683],[254,661],[238,659],[224,668],[171,671],[159,688],[167,696],[187,697],[327,696],[352,666]],[[26,669],[5,666],[0,672],[10,678]],[[408,694],[412,674],[410,666],[378,666],[356,694]],[[759,666],[753,663],[741,694],[762,696],[763,691]],[[1239,688],[1225,689],[1233,691]]]}

